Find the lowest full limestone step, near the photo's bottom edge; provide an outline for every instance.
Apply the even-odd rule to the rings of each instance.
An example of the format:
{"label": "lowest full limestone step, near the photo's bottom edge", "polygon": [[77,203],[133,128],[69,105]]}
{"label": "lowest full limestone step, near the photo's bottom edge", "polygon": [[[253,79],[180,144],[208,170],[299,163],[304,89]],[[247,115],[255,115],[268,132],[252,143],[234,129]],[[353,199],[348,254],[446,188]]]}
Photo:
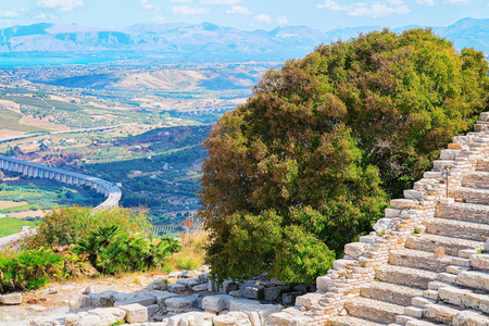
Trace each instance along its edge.
{"label": "lowest full limestone step, near the photo's bottom edge", "polygon": [[362,297],[347,301],[344,308],[353,317],[386,324],[396,323],[396,316],[404,313],[404,306],[402,305]]}

